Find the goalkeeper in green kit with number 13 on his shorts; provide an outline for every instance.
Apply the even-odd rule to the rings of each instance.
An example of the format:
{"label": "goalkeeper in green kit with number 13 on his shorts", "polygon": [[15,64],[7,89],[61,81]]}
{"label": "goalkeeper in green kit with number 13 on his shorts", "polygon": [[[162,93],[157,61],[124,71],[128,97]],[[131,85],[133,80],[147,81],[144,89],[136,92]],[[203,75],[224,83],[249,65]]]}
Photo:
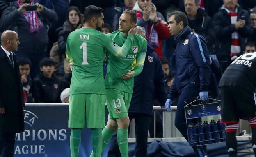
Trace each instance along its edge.
{"label": "goalkeeper in green kit with number 13 on his shorts", "polygon": [[[107,34],[114,45],[124,44],[129,29],[136,25],[134,11],[126,10],[119,18],[119,30]],[[146,57],[147,42],[135,34],[132,45],[125,58],[113,57],[107,53],[107,75],[105,77],[106,102],[109,111],[107,125],[102,130],[103,146],[107,146],[117,131],[117,142],[122,157],[128,157],[128,109],[133,93],[133,77],[142,72]],[[107,50],[108,52],[109,50]],[[90,157],[93,157],[94,152]]]}

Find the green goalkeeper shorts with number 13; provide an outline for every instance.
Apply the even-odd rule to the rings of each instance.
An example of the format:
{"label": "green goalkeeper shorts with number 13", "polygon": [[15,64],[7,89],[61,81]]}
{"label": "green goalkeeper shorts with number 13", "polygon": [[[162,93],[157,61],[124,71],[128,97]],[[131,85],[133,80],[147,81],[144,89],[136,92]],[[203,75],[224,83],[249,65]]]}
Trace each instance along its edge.
{"label": "green goalkeeper shorts with number 13", "polygon": [[117,89],[106,89],[106,102],[108,119],[117,119],[128,116],[132,93],[126,93]]}

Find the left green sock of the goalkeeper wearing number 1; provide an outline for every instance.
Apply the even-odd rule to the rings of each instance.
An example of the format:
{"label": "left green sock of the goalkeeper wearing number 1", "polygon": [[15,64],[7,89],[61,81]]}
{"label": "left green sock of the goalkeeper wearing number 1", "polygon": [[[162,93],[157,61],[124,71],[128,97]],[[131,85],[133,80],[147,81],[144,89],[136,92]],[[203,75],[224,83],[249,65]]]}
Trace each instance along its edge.
{"label": "left green sock of the goalkeeper wearing number 1", "polygon": [[71,128],[70,135],[70,151],[71,157],[78,157],[79,154],[79,146],[81,143],[81,130],[78,128]]}

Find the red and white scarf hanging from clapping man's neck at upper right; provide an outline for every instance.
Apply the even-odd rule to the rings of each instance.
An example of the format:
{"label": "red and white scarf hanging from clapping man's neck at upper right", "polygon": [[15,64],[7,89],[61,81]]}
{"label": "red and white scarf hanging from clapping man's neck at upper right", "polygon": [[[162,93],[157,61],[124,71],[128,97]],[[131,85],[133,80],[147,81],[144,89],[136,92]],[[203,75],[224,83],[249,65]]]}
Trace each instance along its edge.
{"label": "red and white scarf hanging from clapping man's neck at upper right", "polygon": [[[238,9],[235,9],[235,13],[231,13],[229,11],[229,9],[226,9],[225,10],[229,13],[230,15],[230,19],[231,19],[231,24],[235,24],[237,22],[237,16],[238,16]],[[237,31],[233,32],[232,33],[232,40],[231,40],[231,48],[230,48],[230,56],[233,57],[235,55],[238,55],[238,53],[241,52],[241,47],[239,45],[239,34]]]}

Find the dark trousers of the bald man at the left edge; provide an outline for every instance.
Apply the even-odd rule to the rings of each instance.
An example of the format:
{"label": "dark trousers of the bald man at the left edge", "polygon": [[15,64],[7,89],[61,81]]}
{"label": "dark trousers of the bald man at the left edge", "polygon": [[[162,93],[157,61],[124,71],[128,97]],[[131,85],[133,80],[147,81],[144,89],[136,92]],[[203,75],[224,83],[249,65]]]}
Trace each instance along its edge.
{"label": "dark trousers of the bald man at the left edge", "polygon": [[15,134],[12,132],[0,132],[0,157],[13,157]]}

